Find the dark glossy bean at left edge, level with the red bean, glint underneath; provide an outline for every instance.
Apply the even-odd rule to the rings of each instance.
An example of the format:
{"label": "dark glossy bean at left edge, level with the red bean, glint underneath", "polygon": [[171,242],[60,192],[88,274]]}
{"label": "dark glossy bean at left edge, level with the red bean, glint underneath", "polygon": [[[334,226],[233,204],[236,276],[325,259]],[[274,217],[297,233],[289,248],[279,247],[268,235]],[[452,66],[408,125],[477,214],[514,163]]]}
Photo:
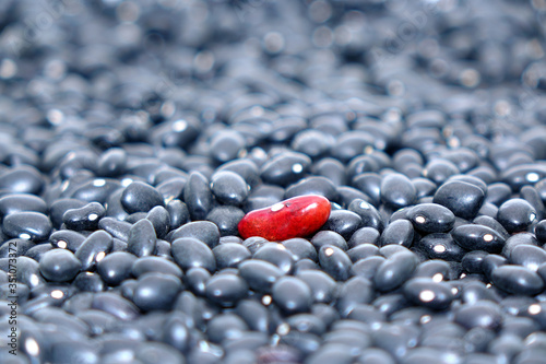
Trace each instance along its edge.
{"label": "dark glossy bean at left edge, level with the red bean, glint underneath", "polygon": [[51,221],[47,215],[33,211],[11,213],[2,223],[5,235],[33,242],[47,239],[51,228]]}

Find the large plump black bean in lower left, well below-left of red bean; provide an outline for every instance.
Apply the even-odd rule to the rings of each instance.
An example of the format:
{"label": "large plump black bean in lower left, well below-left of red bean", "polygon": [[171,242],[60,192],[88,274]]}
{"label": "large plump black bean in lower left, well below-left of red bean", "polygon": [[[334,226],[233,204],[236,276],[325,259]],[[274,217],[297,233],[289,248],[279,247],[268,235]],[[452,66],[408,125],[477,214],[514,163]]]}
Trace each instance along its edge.
{"label": "large plump black bean in lower left, well below-left of red bean", "polygon": [[132,301],[142,310],[170,309],[182,289],[180,280],[171,274],[145,273],[139,278]]}

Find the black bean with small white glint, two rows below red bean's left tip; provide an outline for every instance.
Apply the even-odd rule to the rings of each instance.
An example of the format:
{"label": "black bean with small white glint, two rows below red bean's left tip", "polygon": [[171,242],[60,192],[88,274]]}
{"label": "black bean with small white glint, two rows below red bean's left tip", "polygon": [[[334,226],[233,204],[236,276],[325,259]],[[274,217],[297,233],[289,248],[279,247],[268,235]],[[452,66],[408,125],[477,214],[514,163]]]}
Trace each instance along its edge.
{"label": "black bean with small white glint, two rows below red bean's left tip", "polygon": [[206,282],[209,300],[223,307],[233,307],[248,294],[247,282],[235,274],[219,274]]}

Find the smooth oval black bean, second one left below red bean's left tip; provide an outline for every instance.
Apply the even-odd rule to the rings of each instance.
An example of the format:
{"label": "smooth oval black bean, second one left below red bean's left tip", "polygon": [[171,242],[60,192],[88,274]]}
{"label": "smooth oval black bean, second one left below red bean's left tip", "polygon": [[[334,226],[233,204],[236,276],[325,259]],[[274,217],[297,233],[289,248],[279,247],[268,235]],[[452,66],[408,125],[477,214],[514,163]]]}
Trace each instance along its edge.
{"label": "smooth oval black bean, second one left below red bean's left tip", "polygon": [[173,257],[183,270],[202,267],[211,273],[216,270],[216,260],[211,248],[201,240],[192,237],[181,237],[173,242]]}

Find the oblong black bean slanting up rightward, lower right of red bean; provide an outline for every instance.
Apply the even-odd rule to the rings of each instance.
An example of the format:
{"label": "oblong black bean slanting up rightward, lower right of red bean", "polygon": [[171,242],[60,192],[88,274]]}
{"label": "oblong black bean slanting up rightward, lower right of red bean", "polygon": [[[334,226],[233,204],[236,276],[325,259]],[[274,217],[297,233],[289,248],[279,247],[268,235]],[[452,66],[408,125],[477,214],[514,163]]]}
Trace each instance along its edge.
{"label": "oblong black bean slanting up rightward, lower right of red bean", "polygon": [[412,253],[396,253],[384,260],[373,277],[376,290],[392,291],[401,286],[417,267],[417,258]]}

